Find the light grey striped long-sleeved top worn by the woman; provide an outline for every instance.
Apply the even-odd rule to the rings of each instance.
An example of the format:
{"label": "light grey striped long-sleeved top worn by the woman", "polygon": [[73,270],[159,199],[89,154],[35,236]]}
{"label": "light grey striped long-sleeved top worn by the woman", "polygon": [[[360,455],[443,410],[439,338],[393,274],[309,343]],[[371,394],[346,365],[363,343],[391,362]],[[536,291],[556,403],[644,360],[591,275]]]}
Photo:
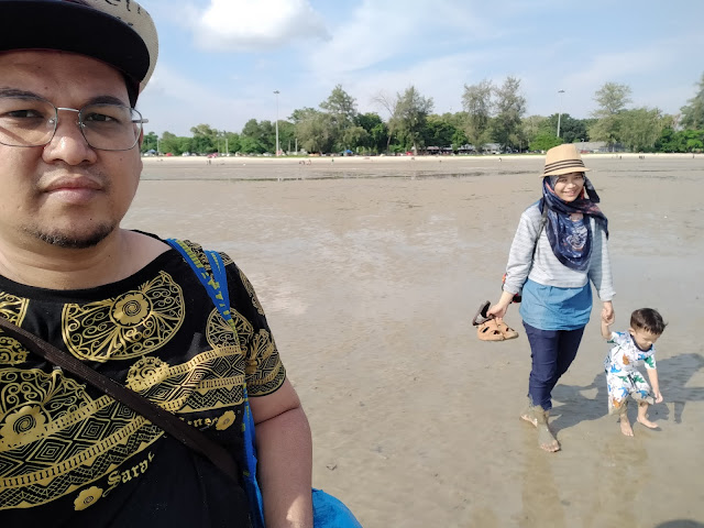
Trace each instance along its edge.
{"label": "light grey striped long-sleeved top worn by the woman", "polygon": [[510,294],[520,293],[527,278],[544,286],[559,288],[581,288],[591,279],[600,299],[612,300],[616,292],[614,292],[612,284],[612,266],[608,258],[606,234],[594,218],[585,216],[586,218],[588,218],[592,230],[592,255],[587,270],[580,272],[571,270],[558,261],[552,248],[550,248],[546,229],[540,233],[534,255],[542,213],[538,202],[526,209],[520,216],[520,222],[508,253],[504,290]]}

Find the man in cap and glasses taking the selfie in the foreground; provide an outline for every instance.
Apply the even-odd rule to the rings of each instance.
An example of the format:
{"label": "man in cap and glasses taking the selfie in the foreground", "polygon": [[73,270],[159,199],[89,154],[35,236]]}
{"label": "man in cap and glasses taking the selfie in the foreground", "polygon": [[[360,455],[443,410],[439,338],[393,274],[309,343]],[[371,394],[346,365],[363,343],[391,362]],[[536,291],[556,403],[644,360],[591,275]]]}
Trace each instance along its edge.
{"label": "man in cap and glasses taking the selfie in the foreground", "polygon": [[[0,526],[251,528],[249,394],[266,525],[312,528],[310,429],[252,285],[182,240],[204,278],[227,276],[219,309],[182,253],[120,227],[142,173],[151,15],[135,0],[0,0],[0,318],[20,327],[0,330]],[[190,430],[166,435],[91,371]],[[226,464],[179,441],[191,433]]]}

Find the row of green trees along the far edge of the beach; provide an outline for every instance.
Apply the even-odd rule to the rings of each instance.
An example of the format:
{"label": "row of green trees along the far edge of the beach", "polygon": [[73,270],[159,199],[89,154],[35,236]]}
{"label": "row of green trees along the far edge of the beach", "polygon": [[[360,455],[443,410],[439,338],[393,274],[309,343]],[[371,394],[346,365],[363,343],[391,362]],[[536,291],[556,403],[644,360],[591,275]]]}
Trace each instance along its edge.
{"label": "row of green trees along the far edge of the beach", "polygon": [[[526,152],[601,141],[609,148],[634,152],[702,152],[704,74],[696,86],[695,96],[680,113],[666,114],[658,108],[630,108],[630,87],[606,82],[594,94],[596,110],[587,119],[576,119],[568,113],[526,116],[520,79],[510,76],[501,86],[490,80],[465,85],[462,111],[443,114],[432,113],[432,98],[424,97],[414,86],[395,96],[378,94],[374,102],[381,113],[361,113],[356,100],[338,85],[318,108],[296,109],[288,119],[278,121],[279,150],[394,154],[436,147],[481,153],[494,144],[501,152]],[[276,124],[251,119],[240,132],[208,124],[193,127],[191,136],[164,132],[160,138],[150,132],[142,152],[273,154]]]}

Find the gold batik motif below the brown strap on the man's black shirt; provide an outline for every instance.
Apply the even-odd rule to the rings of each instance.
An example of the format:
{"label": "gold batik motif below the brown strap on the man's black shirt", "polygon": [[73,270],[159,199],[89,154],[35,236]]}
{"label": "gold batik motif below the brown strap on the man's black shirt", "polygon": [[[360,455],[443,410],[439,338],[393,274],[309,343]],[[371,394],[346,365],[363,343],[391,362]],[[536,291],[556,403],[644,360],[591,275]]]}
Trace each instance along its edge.
{"label": "gold batik motif below the brown strap on the man's black shirt", "polygon": [[94,482],[163,431],[59,369],[0,370],[0,509],[48,503]]}

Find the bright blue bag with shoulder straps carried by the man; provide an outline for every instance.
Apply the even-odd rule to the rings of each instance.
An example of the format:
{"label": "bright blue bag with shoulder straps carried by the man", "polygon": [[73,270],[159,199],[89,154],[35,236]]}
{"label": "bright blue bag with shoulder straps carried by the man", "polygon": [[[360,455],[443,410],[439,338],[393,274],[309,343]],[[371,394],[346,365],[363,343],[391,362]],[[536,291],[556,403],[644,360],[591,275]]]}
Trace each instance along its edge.
{"label": "bright blue bag with shoulder straps carried by the man", "polygon": [[[228,292],[228,276],[220,254],[216,251],[206,251],[212,276],[206,271],[193,250],[185,243],[176,239],[165,241],[178,251],[200,283],[205,286],[212,302],[218,308],[222,318],[232,327],[237,336],[237,328],[230,314],[230,294]],[[262,491],[256,482],[256,443],[254,437],[254,419],[250,409],[250,399],[244,386],[244,419],[242,421],[244,430],[244,455],[246,468],[244,473],[244,487],[250,503],[250,518],[254,528],[266,528],[264,524],[264,506],[262,503]],[[323,492],[312,488],[312,517],[315,528],[362,528],[362,525],[354,517],[352,512],[338,498]]]}

